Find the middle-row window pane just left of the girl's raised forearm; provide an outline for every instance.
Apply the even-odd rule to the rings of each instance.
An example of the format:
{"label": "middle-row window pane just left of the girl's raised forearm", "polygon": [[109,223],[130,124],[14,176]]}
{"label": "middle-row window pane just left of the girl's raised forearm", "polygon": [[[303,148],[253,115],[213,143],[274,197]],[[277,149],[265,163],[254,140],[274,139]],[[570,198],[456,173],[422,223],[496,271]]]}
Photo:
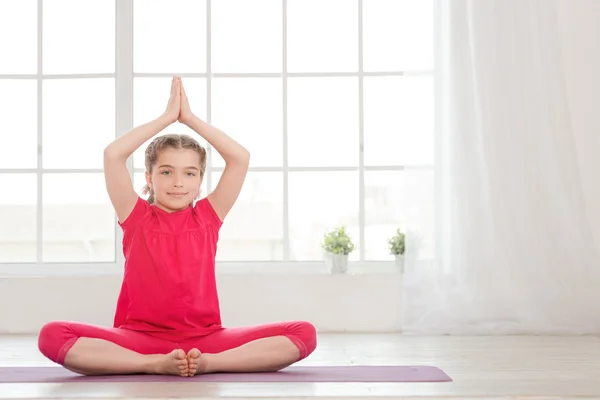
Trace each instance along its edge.
{"label": "middle-row window pane just left of the girl's raised forearm", "polygon": [[50,79],[43,87],[44,168],[102,168],[115,138],[115,80]]}

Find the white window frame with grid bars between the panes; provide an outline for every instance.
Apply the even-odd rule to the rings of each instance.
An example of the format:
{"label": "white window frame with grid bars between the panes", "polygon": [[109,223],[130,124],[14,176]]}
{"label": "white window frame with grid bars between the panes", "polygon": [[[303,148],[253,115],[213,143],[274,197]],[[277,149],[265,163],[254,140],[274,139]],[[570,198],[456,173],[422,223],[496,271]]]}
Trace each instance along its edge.
{"label": "white window frame with grid bars between the panes", "polygon": [[[211,122],[211,78],[212,77],[279,77],[283,80],[283,165],[282,167],[251,167],[250,171],[278,171],[283,173],[283,261],[240,261],[240,262],[217,262],[217,270],[221,273],[325,273],[323,262],[320,261],[290,261],[290,239],[289,239],[289,201],[288,201],[288,173],[295,171],[358,171],[359,175],[359,228],[360,235],[358,240],[359,261],[350,261],[349,269],[354,273],[378,273],[393,271],[390,265],[391,261],[370,261],[365,260],[365,171],[398,171],[406,169],[406,166],[365,166],[364,163],[364,107],[363,107],[363,78],[370,76],[432,76],[434,77],[435,85],[435,104],[436,121],[439,120],[438,96],[439,83],[436,71],[439,70],[437,30],[439,29],[439,4],[440,0],[434,0],[434,35],[436,43],[434,44],[435,66],[433,70],[425,71],[389,71],[389,72],[365,72],[363,70],[363,26],[362,26],[362,5],[363,0],[358,1],[358,57],[359,70],[352,73],[289,73],[286,65],[286,42],[287,42],[287,27],[286,27],[286,12],[287,0],[282,0],[283,10],[283,69],[282,73],[213,73],[211,70],[211,0],[207,2],[207,20],[206,20],[206,73],[182,73],[179,74],[183,78],[186,77],[202,77],[207,78],[207,122]],[[135,77],[170,77],[169,73],[134,73],[133,71],[133,0],[115,0],[115,25],[116,25],[116,42],[115,42],[115,73],[101,74],[60,74],[48,75],[42,74],[42,23],[43,23],[43,1],[38,0],[38,51],[37,51],[37,74],[36,75],[0,75],[0,78],[8,79],[36,79],[37,80],[37,137],[38,143],[42,143],[42,83],[47,79],[82,79],[82,78],[115,78],[116,83],[116,136],[122,135],[133,127],[133,80]],[[359,163],[358,167],[290,167],[288,165],[287,154],[287,78],[288,77],[329,77],[329,76],[349,76],[358,77],[359,80]],[[439,144],[439,128],[436,123],[435,144],[436,151]],[[212,166],[212,149],[207,145],[207,190],[212,189],[212,173],[222,171],[223,167]],[[130,171],[131,179],[135,173],[144,172],[144,169],[134,168],[132,158],[127,161],[127,167]],[[439,176],[439,170],[435,165],[410,166],[411,170],[426,169],[434,170],[436,176]],[[38,145],[37,167],[31,169],[0,169],[2,173],[36,173],[37,175],[37,262],[35,263],[0,263],[1,276],[78,276],[78,275],[115,275],[123,273],[124,257],[121,249],[122,231],[115,222],[115,262],[42,262],[43,248],[43,229],[42,223],[42,174],[43,173],[102,173],[102,169],[44,169],[42,167],[42,148]],[[436,191],[439,190],[436,179]],[[436,203],[436,214],[439,215],[440,204]],[[436,217],[436,225],[439,226],[439,217]],[[440,229],[436,229],[436,254],[440,249],[441,236]],[[423,260],[426,264],[434,263],[435,260]]]}

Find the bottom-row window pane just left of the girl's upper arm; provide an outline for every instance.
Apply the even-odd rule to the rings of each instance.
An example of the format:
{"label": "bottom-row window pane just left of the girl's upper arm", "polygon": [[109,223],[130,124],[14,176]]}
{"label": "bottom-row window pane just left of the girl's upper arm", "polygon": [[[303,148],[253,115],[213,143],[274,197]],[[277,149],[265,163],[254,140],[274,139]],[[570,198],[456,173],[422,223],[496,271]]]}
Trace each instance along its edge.
{"label": "bottom-row window pane just left of the girl's upper arm", "polygon": [[44,174],[42,197],[44,261],[114,261],[116,215],[103,174]]}

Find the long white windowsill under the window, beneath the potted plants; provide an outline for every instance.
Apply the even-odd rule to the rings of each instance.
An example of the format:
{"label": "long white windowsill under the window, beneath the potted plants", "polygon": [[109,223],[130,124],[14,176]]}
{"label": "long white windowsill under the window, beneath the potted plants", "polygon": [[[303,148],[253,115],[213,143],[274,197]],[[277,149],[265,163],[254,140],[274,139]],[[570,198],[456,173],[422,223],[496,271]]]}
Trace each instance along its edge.
{"label": "long white windowsill under the window, beneath the potted plants", "polygon": [[[429,264],[432,260],[419,260]],[[323,261],[310,262],[217,262],[217,275],[332,275]],[[116,263],[57,263],[57,264],[6,264],[0,265],[0,278],[47,276],[119,276],[122,267]],[[393,261],[349,262],[345,274],[373,275],[400,274]]]}

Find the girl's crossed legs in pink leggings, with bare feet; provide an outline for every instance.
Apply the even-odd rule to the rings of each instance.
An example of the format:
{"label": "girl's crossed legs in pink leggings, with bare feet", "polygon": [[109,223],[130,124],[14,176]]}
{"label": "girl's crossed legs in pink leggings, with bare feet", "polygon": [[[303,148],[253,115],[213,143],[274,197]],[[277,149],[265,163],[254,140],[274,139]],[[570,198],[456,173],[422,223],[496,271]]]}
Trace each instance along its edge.
{"label": "girl's crossed legs in pink leggings, with bare feet", "polygon": [[83,375],[277,371],[312,353],[314,327],[303,321],[224,328],[183,341],[142,332],[54,321],[40,331],[42,354]]}

